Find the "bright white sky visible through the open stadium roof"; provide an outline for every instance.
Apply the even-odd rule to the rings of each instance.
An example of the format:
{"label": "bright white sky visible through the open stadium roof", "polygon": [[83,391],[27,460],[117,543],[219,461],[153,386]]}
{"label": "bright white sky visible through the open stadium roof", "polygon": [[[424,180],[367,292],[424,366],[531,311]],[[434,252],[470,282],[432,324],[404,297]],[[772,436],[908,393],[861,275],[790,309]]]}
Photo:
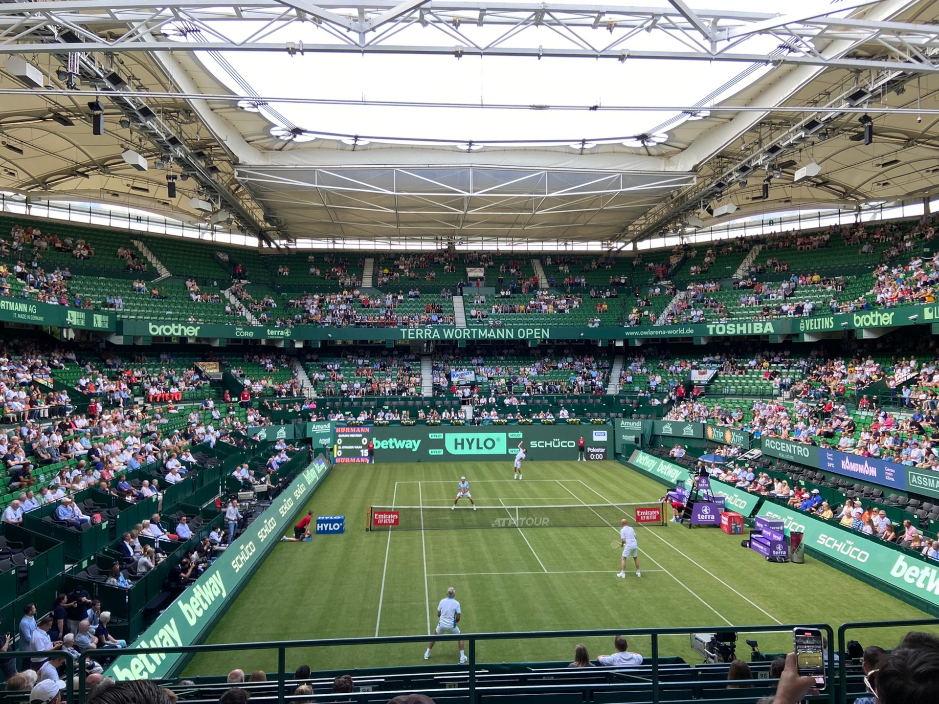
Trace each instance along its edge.
{"label": "bright white sky visible through the open stadium roof", "polygon": [[[587,5],[587,3],[584,3]],[[656,3],[655,7],[667,4]],[[708,2],[708,8],[760,11],[760,4],[741,0]],[[791,0],[784,11],[824,11],[818,2]],[[221,23],[220,23],[221,24]],[[258,23],[223,23],[232,38],[247,38]],[[221,29],[221,27],[220,27]],[[491,41],[505,26],[477,27],[467,22],[461,31],[477,43]],[[594,47],[611,41],[600,27],[578,30],[578,37]],[[209,39],[208,36],[203,38]],[[291,23],[265,41],[302,40],[335,43],[313,23]],[[564,39],[548,27],[531,28],[510,39],[515,46],[564,46]],[[456,43],[433,27],[414,23],[394,36],[395,45]],[[780,39],[748,38],[735,52],[767,54]],[[571,48],[575,44],[569,44]],[[678,38],[663,32],[639,32],[623,44],[632,50],[685,52]],[[275,113],[262,110],[277,124],[288,123],[319,135],[359,135],[371,141],[404,140],[411,144],[454,141],[492,145],[513,142],[550,142],[567,145],[588,142],[616,143],[649,133],[675,117],[673,112],[614,112],[603,110],[481,109],[480,105],[510,103],[531,105],[617,106],[690,105],[705,99],[735,76],[746,72],[745,63],[684,60],[590,58],[516,58],[413,54],[286,54],[229,52],[221,54],[222,65],[209,53],[200,53],[207,68],[228,88],[240,95],[295,96],[312,99],[343,99],[356,104],[322,105],[272,103]],[[769,70],[760,65],[741,80],[732,82],[709,103],[730,98]],[[375,106],[370,100],[442,102],[473,107]],[[673,122],[674,127],[678,122]],[[309,135],[307,135],[309,136]],[[338,139],[339,137],[335,137]],[[384,140],[382,138],[385,138]]]}

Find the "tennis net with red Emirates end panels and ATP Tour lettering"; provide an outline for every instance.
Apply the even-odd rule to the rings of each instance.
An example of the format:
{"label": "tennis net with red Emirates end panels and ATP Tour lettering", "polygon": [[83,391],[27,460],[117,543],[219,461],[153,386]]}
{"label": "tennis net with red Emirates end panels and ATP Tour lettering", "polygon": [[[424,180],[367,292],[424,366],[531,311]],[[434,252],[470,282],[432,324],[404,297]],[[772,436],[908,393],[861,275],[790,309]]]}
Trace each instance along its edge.
{"label": "tennis net with red Emirates end panels and ATP Tour lettering", "polygon": [[597,503],[560,506],[369,506],[367,530],[442,528],[608,528],[620,521],[664,526],[664,503]]}

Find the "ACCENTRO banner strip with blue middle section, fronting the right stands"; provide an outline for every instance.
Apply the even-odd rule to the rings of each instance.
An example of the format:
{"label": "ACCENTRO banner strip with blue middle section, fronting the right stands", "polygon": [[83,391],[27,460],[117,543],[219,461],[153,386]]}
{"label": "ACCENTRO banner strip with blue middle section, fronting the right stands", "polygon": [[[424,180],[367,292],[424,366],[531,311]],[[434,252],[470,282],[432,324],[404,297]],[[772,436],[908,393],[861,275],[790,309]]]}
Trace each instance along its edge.
{"label": "ACCENTRO banner strip with blue middle section, fronting the right stands", "polygon": [[907,467],[874,457],[862,457],[859,454],[826,450],[778,437],[763,437],[762,452],[769,457],[833,472],[859,483],[939,498],[939,472]]}

